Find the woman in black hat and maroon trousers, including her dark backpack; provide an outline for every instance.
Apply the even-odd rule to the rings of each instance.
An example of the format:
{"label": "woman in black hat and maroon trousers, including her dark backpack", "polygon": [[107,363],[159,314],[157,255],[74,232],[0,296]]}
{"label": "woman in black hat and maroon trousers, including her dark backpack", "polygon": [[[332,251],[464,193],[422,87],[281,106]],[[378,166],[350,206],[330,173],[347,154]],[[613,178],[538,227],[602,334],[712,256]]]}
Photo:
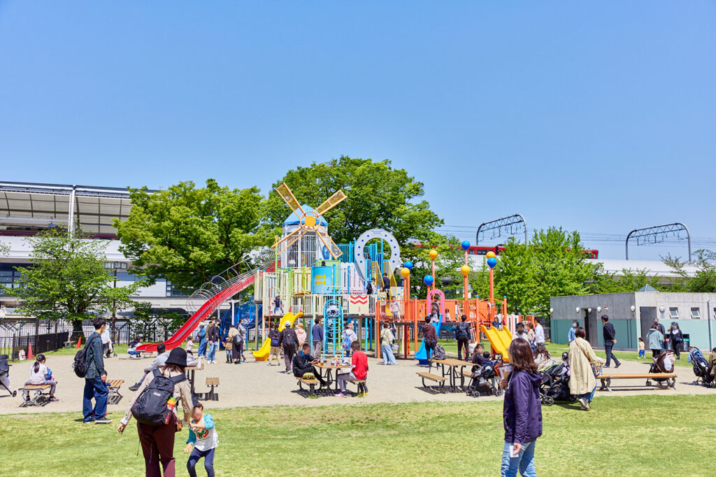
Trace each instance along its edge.
{"label": "woman in black hat and maroon trousers, including her dark backpack", "polygon": [[[191,419],[193,400],[191,387],[184,370],[186,351],[174,348],[170,353],[163,371],[154,370],[142,382],[130,400],[129,409],[120,421],[117,430],[125,431],[132,416],[137,419],[137,432],[142,444],[145,461],[145,475],[160,477],[159,463],[162,463],[164,477],[174,477],[174,437],[182,428],[182,423]],[[170,398],[173,397],[174,403]],[[178,401],[181,400],[184,411],[183,420],[177,416]],[[171,408],[171,410],[169,410]]]}

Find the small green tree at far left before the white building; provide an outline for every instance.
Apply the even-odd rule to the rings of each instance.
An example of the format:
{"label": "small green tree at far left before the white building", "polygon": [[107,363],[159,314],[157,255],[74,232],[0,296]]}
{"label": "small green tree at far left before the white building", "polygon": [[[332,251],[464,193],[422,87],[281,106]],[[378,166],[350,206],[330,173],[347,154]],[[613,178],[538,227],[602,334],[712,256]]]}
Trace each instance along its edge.
{"label": "small green tree at far left before the white building", "polygon": [[6,289],[21,299],[21,312],[38,319],[64,319],[74,332],[82,332],[82,320],[132,305],[130,297],[142,285],[111,284],[105,269],[106,241],[84,240],[65,231],[49,229],[32,238],[31,266],[19,266],[18,287]]}

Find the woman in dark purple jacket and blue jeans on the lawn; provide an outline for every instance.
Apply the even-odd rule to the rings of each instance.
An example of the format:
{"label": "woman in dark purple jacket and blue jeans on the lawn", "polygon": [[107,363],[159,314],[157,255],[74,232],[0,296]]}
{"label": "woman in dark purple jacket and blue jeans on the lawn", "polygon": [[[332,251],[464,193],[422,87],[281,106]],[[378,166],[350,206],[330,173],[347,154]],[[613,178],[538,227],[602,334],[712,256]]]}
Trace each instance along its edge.
{"label": "woman in dark purple jacket and blue jeans on the lawn", "polygon": [[501,475],[513,477],[536,476],[535,443],[542,435],[542,407],[537,365],[532,348],[524,339],[514,339],[510,344],[510,361],[513,372],[509,379],[503,378],[500,387],[507,385],[503,408],[505,447],[502,453]]}

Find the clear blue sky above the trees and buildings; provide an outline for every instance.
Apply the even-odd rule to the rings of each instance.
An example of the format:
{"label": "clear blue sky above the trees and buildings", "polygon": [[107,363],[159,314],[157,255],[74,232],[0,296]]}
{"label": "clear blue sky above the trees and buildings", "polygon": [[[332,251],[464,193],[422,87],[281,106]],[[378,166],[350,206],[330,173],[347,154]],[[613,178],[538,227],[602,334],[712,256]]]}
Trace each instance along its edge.
{"label": "clear blue sky above the trees and buildings", "polygon": [[449,225],[716,238],[715,24],[713,1],[0,1],[0,178],[266,191],[345,154],[410,170]]}

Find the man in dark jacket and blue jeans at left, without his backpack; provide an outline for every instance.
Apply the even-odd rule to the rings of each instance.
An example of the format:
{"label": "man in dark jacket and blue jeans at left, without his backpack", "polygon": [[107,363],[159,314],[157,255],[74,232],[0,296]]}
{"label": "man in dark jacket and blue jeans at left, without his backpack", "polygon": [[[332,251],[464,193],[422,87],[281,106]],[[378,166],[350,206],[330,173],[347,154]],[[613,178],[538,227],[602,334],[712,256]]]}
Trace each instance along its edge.
{"label": "man in dark jacket and blue jeans at left, without his backpack", "polygon": [[[87,349],[85,359],[87,360],[87,374],[84,375],[84,395],[82,396],[82,414],[85,423],[107,424],[111,423],[111,419],[107,419],[107,395],[109,391],[104,382],[102,375],[105,372],[105,360],[102,355],[102,333],[107,328],[107,320],[99,317],[92,322],[95,332],[87,338]],[[95,399],[95,407],[92,408],[92,398]]]}

